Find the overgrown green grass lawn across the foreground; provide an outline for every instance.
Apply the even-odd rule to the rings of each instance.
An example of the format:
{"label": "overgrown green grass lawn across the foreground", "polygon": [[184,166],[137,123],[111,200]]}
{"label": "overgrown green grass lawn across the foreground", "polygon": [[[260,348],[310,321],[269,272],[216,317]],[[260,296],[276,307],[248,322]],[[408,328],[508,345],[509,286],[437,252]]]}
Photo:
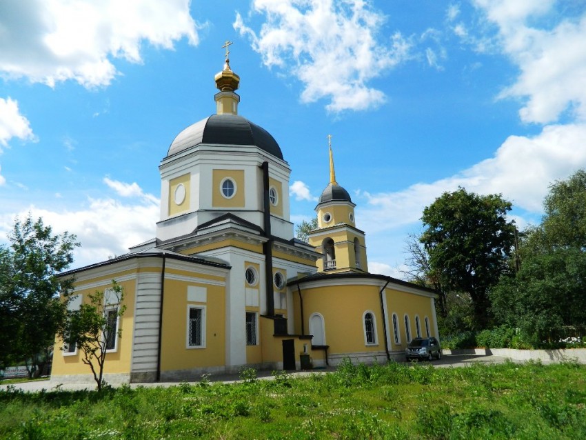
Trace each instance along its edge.
{"label": "overgrown green grass lawn across the foreground", "polygon": [[101,393],[0,392],[2,439],[586,438],[577,363],[433,368],[343,363],[337,372]]}

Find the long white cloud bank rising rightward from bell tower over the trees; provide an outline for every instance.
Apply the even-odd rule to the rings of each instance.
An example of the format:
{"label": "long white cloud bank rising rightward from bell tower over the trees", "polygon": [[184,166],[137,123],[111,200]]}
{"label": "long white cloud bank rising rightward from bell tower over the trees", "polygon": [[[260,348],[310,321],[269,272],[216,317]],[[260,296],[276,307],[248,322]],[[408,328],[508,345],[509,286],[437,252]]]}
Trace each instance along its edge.
{"label": "long white cloud bank rising rightward from bell tower over the trees", "polygon": [[361,228],[377,233],[414,224],[425,206],[458,186],[479,194],[501,193],[517,208],[540,212],[550,183],[586,168],[584,139],[585,124],[547,126],[534,137],[509,137],[494,157],[454,176],[399,192],[364,193],[367,206],[357,208]]}

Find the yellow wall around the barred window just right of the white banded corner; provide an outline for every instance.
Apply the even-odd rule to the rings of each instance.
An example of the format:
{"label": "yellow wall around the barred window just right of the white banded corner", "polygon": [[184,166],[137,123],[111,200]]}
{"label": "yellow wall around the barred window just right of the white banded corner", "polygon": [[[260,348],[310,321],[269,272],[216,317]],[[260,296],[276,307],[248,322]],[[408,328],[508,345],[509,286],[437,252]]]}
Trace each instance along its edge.
{"label": "yellow wall around the barred window just right of the white banded corner", "polygon": [[[193,272],[168,270],[167,275],[182,275],[225,281]],[[206,301],[188,301],[188,286],[206,289]],[[188,306],[205,306],[205,348],[188,348]],[[225,286],[205,281],[165,279],[161,371],[187,370],[225,364]]]}

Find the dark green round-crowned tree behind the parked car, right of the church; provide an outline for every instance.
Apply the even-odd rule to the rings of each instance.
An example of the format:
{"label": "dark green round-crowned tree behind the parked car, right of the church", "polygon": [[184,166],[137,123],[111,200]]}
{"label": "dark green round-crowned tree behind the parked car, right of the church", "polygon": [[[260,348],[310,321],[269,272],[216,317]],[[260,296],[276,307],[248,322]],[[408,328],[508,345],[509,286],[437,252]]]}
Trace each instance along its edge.
{"label": "dark green round-crowned tree behind the parked car, right of the church", "polygon": [[421,243],[429,254],[430,274],[443,288],[469,294],[476,330],[489,325],[489,289],[509,270],[511,208],[500,194],[482,196],[458,188],[423,210]]}

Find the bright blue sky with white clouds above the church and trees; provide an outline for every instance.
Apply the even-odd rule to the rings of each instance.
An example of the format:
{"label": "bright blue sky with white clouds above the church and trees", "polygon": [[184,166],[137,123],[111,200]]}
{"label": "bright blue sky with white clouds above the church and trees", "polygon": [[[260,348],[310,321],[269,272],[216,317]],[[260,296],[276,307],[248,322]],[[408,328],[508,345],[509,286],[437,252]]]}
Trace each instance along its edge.
{"label": "bright blue sky with white clouds above the church and trees", "polygon": [[158,166],[241,77],[239,114],[292,172],[292,221],[329,181],[370,272],[402,277],[423,208],[461,186],[539,223],[586,168],[583,0],[0,2],[0,243],[28,212],[76,234],[74,268],[155,235]]}

